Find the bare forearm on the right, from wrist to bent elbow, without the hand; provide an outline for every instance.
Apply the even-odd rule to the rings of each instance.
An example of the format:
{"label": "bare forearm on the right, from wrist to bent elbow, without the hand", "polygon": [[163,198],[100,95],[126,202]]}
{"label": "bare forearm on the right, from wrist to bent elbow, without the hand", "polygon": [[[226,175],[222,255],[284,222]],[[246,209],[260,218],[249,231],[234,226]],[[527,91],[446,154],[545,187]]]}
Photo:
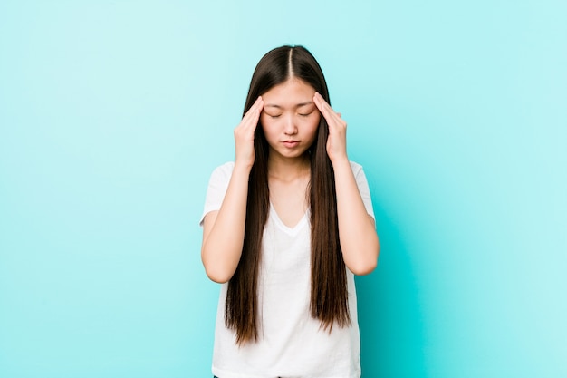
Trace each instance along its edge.
{"label": "bare forearm on the right, from wrist to bent elbow, without the hand", "polygon": [[356,275],[369,274],[377,265],[380,244],[349,160],[333,163],[337,191],[339,237],[345,265]]}

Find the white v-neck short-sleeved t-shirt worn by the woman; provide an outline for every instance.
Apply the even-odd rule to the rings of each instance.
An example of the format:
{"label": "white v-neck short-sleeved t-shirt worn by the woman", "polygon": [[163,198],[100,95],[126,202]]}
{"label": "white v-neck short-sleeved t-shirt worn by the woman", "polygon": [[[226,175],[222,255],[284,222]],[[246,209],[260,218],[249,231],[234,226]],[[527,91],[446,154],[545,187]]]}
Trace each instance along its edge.
{"label": "white v-neck short-sleeved t-shirt worn by the woman", "polygon": [[[362,167],[351,162],[367,212],[374,217]],[[203,218],[218,210],[234,162],[213,171]],[[225,325],[227,284],[221,287],[216,311],[213,373],[219,378],[358,378],[360,334],[354,276],[347,269],[351,325],[325,331],[313,319],[311,296],[311,228],[309,210],[293,228],[285,226],[274,207],[264,228],[258,281],[259,340],[238,347],[235,332]]]}

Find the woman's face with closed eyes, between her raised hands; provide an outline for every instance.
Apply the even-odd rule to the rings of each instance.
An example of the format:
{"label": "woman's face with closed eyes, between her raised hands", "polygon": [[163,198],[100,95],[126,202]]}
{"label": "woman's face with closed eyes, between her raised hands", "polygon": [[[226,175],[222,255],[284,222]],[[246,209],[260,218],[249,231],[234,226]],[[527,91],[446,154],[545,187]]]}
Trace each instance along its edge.
{"label": "woman's face with closed eyes, between her raised hands", "polygon": [[260,123],[270,146],[270,156],[299,158],[315,140],[321,113],[313,102],[315,90],[291,78],[262,95]]}

